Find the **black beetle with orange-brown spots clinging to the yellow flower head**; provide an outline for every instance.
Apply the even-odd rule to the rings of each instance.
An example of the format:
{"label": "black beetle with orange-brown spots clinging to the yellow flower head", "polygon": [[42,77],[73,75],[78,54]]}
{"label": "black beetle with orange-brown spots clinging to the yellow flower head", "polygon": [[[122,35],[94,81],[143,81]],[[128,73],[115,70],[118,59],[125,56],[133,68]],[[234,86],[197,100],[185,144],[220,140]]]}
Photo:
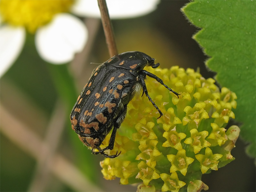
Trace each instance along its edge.
{"label": "black beetle with orange-brown spots clinging to the yellow flower head", "polygon": [[[116,55],[93,70],[70,114],[72,129],[93,154],[115,158],[121,153],[108,155],[104,151],[114,148],[116,131],[124,121],[127,104],[141,88],[142,96],[145,93],[159,112],[158,118],[163,116],[148,95],[146,76],[156,79],[179,98],[180,94],[165,85],[162,79],[144,70],[145,66],[157,68],[159,65],[147,54],[133,51]],[[101,149],[100,144],[112,128],[108,146]]]}

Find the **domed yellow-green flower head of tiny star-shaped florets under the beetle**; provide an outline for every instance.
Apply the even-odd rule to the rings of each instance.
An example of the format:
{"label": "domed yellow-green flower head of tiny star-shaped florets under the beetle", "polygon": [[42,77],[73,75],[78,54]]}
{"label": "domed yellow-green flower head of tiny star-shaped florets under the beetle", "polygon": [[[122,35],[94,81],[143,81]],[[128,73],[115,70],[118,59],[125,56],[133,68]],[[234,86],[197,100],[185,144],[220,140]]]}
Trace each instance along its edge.
{"label": "domed yellow-green flower head of tiny star-shaped florets under the beetle", "polygon": [[[178,92],[171,94],[155,79],[146,80],[148,93],[164,116],[145,98],[137,95],[128,104],[127,116],[116,133],[115,155],[100,162],[105,179],[120,178],[121,184],[140,183],[138,191],[201,191],[208,186],[202,174],[225,166],[235,158],[240,129],[225,126],[236,108],[236,94],[219,88],[212,78],[204,79],[193,69],[147,68]],[[142,92],[140,93],[142,94]],[[111,133],[102,143],[108,146]]]}

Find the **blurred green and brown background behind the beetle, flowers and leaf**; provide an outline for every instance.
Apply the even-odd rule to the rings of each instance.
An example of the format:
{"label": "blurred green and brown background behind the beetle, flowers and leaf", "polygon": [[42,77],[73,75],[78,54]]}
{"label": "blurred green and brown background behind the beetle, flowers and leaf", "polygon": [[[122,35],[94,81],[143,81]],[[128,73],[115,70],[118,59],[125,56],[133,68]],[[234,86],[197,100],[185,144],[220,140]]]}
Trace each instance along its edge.
{"label": "blurred green and brown background behind the beetle, flowers and leaf", "polygon": [[[156,11],[139,18],[114,20],[118,52],[141,51],[161,68],[179,65],[200,68],[204,55],[191,37],[198,31],[180,8],[188,1],[161,1]],[[1,191],[136,191],[107,181],[100,172],[103,156],[92,155],[71,129],[69,114],[96,64],[108,60],[99,19],[83,18],[89,41],[83,52],[64,65],[52,65],[36,52],[34,36],[27,34],[19,58],[1,78]],[[236,158],[202,180],[208,191],[255,191],[255,165],[238,139]]]}

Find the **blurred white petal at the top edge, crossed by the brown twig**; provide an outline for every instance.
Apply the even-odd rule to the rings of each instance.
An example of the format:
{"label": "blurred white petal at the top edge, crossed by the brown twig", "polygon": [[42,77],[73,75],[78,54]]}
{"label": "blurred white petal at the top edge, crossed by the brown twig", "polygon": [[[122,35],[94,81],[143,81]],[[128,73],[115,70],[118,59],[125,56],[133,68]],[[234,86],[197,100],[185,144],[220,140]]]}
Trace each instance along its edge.
{"label": "blurred white petal at the top edge, crossed by the brown twig", "polygon": [[[156,9],[159,0],[107,0],[111,19],[124,19],[146,15]],[[100,17],[97,0],[78,0],[72,12],[79,16]]]}

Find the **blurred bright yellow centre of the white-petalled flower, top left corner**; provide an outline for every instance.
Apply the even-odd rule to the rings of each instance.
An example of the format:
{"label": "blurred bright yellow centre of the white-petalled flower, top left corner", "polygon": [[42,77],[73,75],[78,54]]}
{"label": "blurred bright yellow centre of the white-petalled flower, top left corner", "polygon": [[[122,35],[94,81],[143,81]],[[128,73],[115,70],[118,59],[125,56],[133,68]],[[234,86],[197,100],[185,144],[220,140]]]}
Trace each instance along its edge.
{"label": "blurred bright yellow centre of the white-petalled flower, top left corner", "polygon": [[73,0],[1,0],[0,14],[4,22],[23,26],[31,33],[60,12],[68,12]]}

